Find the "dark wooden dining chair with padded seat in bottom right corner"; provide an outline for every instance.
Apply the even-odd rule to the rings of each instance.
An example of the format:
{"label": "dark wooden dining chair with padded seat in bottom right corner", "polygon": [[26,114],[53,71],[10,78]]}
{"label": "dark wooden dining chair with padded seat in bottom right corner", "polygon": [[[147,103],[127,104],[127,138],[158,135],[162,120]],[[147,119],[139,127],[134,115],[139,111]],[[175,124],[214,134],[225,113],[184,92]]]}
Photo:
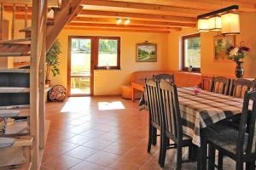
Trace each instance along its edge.
{"label": "dark wooden dining chair with padded seat in bottom right corner", "polygon": [[[252,102],[252,111],[249,110],[249,102]],[[250,121],[247,118],[250,116]],[[218,133],[207,132],[208,143],[208,170],[214,167],[223,169],[223,156],[229,156],[236,161],[236,170],[243,169],[243,162],[247,162],[247,169],[255,169],[256,160],[256,91],[245,93],[241,111],[239,130],[226,127]],[[248,130],[247,130],[248,129]],[[218,166],[215,165],[215,151],[218,150]]]}

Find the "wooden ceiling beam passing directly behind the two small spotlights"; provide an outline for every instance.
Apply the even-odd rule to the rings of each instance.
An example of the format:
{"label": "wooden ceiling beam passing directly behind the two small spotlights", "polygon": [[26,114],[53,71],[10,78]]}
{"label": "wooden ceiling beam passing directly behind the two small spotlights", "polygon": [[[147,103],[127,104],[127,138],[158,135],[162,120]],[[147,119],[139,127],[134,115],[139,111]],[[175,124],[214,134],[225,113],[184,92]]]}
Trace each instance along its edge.
{"label": "wooden ceiling beam passing directly behind the two small spotlights", "polygon": [[[72,22],[115,24],[116,20],[113,18],[76,17]],[[151,21],[151,20],[131,20],[130,25],[172,26],[172,27],[195,27],[196,26],[196,24],[193,24],[193,23],[178,23],[178,22]]]}

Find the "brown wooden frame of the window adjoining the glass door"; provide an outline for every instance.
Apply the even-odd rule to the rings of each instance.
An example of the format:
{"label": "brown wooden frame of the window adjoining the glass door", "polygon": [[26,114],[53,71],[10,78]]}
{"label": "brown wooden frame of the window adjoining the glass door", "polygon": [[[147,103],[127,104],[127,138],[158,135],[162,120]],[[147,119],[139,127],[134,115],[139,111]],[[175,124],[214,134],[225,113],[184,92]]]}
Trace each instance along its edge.
{"label": "brown wooden frame of the window adjoining the glass door", "polygon": [[105,70],[107,69],[107,66],[98,66],[98,62],[99,62],[99,42],[100,39],[109,39],[109,40],[117,40],[117,65],[116,66],[109,66],[109,70],[120,70],[120,48],[121,48],[121,38],[120,37],[103,37],[103,36],[97,36],[96,37],[96,46],[95,46],[95,52],[96,52],[96,58],[95,58],[95,70]]}

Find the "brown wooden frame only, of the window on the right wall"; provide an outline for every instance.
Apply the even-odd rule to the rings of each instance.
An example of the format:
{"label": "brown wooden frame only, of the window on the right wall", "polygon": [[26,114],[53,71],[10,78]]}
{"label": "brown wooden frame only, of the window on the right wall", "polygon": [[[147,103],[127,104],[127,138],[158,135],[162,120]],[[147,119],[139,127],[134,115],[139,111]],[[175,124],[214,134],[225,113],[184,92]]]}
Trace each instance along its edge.
{"label": "brown wooden frame only, of the window on the right wall", "polygon": [[[189,71],[189,67],[185,66],[185,40],[193,37],[201,37],[200,33],[196,34],[190,34],[188,36],[183,36],[182,37],[182,70],[183,71]],[[201,72],[201,67],[200,68],[193,68],[192,72]]]}

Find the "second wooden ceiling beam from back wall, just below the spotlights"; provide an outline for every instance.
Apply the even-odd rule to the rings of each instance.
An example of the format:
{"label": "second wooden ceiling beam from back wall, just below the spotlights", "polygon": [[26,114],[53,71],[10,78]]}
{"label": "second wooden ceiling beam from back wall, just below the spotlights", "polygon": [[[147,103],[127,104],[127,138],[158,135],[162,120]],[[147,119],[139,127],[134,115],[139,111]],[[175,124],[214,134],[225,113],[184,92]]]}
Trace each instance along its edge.
{"label": "second wooden ceiling beam from back wall, just below the spotlights", "polygon": [[115,28],[115,29],[128,29],[128,30],[157,30],[157,31],[181,31],[177,27],[163,27],[163,26],[125,26],[116,24],[95,24],[95,23],[69,23],[67,26],[73,27],[100,27],[100,28]]}

